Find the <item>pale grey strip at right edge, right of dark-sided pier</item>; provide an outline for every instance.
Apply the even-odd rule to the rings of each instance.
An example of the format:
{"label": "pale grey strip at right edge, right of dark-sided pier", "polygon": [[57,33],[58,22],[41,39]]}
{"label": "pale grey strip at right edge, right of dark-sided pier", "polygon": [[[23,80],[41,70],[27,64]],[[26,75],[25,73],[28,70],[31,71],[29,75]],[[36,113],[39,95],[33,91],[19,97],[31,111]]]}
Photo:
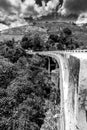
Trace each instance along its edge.
{"label": "pale grey strip at right edge, right of dark-sided pier", "polygon": [[78,127],[87,130],[87,60],[80,61],[78,94]]}

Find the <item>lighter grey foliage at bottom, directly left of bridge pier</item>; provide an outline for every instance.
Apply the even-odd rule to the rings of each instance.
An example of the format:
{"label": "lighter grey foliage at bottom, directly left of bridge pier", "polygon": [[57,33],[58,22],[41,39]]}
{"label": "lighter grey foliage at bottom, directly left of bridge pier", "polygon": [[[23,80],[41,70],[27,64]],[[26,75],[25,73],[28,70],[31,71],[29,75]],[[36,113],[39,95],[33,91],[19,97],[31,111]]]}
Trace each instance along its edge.
{"label": "lighter grey foliage at bottom, directly left of bridge pier", "polygon": [[41,130],[60,130],[60,106],[49,103],[49,110],[46,112],[46,118]]}

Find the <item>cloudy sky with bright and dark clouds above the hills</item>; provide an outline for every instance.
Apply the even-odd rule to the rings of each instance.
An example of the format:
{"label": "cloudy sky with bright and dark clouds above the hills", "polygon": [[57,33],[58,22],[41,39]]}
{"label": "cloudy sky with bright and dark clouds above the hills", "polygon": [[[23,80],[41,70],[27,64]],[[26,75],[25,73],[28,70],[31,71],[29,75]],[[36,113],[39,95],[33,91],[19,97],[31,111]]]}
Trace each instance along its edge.
{"label": "cloudy sky with bright and dark clouds above the hills", "polygon": [[56,8],[61,15],[73,13],[87,17],[87,0],[0,0],[0,20],[15,21],[31,15],[40,17]]}

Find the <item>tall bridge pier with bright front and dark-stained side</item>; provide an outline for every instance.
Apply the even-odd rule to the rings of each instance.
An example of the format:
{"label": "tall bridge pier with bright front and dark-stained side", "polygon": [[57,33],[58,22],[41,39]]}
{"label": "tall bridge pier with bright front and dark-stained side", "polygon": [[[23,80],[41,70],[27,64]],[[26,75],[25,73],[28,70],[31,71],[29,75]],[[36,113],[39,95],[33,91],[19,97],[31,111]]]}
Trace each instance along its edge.
{"label": "tall bridge pier with bright front and dark-stained side", "polygon": [[64,58],[62,72],[62,106],[64,108],[64,129],[78,130],[78,79],[79,79],[79,59],[69,56]]}

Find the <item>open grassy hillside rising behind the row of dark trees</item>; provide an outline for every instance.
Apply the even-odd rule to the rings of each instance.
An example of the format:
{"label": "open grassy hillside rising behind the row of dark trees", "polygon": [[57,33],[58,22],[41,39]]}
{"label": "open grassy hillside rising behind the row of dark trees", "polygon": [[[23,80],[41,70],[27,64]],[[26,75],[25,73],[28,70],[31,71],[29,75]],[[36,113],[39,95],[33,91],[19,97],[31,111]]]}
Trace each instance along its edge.
{"label": "open grassy hillside rising behind the row of dark trees", "polygon": [[56,33],[65,27],[68,27],[72,30],[73,36],[78,40],[78,42],[82,42],[85,46],[87,44],[87,27],[82,26],[79,27],[71,22],[60,22],[60,21],[35,21],[33,23],[29,23],[29,25],[15,27],[6,29],[1,31],[0,41],[4,39],[14,39],[21,40],[24,34],[27,33],[35,33],[40,32],[41,35],[47,35]]}

